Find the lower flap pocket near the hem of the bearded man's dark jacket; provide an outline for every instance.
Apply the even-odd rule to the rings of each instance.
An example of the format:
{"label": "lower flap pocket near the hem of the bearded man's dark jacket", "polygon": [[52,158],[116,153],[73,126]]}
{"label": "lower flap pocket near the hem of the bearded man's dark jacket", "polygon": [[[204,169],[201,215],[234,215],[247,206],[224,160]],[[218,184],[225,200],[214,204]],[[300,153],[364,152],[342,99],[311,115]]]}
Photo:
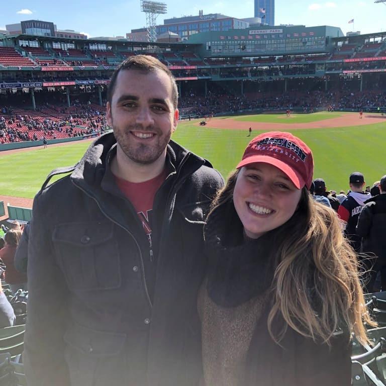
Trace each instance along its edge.
{"label": "lower flap pocket near the hem of the bearded man's dark jacket", "polygon": [[94,358],[101,358],[120,354],[126,343],[126,334],[91,330],[80,325],[74,325],[66,331],[63,339],[70,346],[79,349],[84,354]]}

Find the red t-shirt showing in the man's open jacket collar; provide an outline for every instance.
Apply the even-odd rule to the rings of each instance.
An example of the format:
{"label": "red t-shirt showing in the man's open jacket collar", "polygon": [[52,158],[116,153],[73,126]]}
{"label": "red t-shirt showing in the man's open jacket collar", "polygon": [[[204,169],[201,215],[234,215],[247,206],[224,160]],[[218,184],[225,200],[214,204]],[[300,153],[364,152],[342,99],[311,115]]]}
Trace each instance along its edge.
{"label": "red t-shirt showing in the man's open jacket collar", "polygon": [[115,176],[116,183],[126,198],[132,203],[152,249],[151,226],[153,216],[153,202],[157,190],[166,178],[166,168],[161,174],[144,182],[130,182]]}

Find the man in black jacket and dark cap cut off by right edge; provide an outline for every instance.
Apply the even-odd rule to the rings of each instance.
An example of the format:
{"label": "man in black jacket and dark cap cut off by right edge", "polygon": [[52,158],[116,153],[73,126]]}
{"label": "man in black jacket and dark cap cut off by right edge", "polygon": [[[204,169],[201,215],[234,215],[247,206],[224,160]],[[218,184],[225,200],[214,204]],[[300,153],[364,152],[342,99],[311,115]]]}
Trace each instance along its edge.
{"label": "man in black jacket and dark cap cut off by right edge", "polygon": [[378,184],[379,195],[365,201],[360,212],[356,233],[362,237],[361,252],[374,256],[367,261],[372,270],[366,292],[373,292],[376,274],[380,271],[382,291],[386,289],[386,175]]}

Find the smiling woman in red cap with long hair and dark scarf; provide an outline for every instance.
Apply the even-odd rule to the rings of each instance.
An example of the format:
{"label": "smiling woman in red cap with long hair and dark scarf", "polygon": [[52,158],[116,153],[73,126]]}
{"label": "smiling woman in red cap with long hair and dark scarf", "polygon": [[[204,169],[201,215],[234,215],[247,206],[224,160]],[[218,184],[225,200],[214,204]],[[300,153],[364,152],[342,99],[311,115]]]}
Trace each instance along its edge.
{"label": "smiling woman in red cap with long hair and dark scarf", "polygon": [[313,156],[289,133],[254,138],[205,226],[198,301],[206,386],[351,384],[350,333],[367,342],[355,253],[312,200]]}

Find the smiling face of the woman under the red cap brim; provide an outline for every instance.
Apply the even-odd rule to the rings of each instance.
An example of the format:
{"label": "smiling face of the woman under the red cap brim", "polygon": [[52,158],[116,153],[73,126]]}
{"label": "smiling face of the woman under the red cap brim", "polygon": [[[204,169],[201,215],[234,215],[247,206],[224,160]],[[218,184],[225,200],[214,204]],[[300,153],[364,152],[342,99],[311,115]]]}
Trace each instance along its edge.
{"label": "smiling face of the woman under the red cap brim", "polygon": [[245,234],[256,239],[287,222],[295,213],[301,195],[302,189],[280,169],[256,162],[240,169],[233,202]]}

